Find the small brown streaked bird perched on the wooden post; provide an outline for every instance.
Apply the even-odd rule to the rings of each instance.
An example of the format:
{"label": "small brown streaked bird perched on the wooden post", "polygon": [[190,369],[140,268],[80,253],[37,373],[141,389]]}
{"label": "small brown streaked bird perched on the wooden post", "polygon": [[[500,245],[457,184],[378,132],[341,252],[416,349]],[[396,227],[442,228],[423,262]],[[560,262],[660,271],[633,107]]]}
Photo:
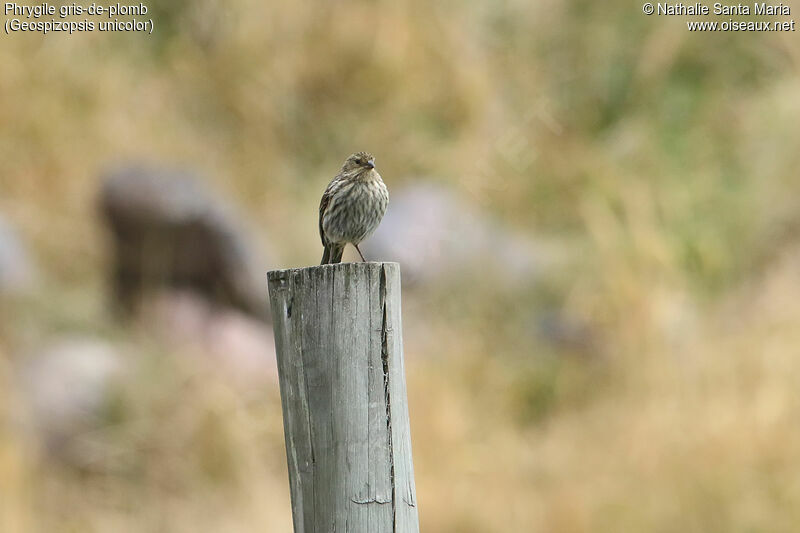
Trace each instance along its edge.
{"label": "small brown streaked bird perched on the wooden post", "polygon": [[355,246],[369,237],[381,223],[389,191],[375,170],[375,158],[367,152],[348,157],[331,180],[319,203],[319,236],[325,252],[322,265],[339,263],[347,243]]}

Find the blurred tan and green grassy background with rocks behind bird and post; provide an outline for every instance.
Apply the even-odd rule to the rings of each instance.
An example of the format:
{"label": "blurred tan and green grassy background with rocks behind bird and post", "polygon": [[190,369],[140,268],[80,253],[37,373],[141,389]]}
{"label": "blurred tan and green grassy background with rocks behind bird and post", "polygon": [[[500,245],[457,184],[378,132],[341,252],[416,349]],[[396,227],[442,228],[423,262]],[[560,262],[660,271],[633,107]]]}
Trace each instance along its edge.
{"label": "blurred tan and green grassy background with rocks behind bird and post", "polygon": [[423,531],[798,530],[795,33],[146,5],[1,38],[0,531],[291,530],[265,273],[319,263],[358,150]]}

